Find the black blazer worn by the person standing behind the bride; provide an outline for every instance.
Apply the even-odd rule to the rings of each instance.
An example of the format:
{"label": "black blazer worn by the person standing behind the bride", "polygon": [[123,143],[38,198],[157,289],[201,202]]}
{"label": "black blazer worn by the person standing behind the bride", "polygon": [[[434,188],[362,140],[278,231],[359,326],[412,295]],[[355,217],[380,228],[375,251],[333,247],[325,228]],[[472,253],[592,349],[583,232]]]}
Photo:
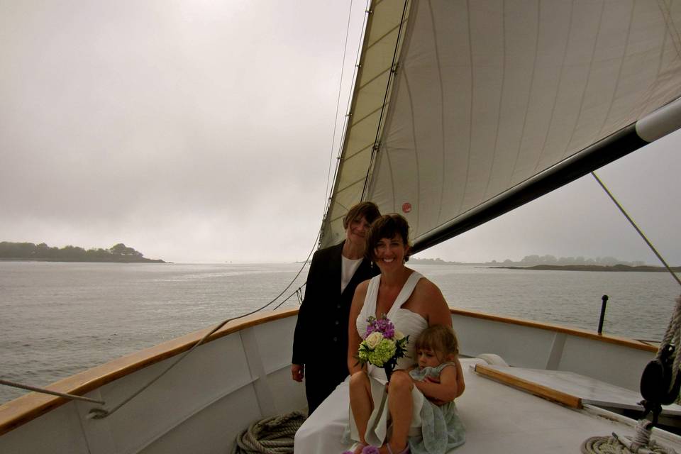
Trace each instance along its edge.
{"label": "black blazer worn by the person standing behind the bride", "polygon": [[355,289],[380,270],[362,260],[341,294],[344,243],[318,250],[312,257],[293,338],[293,364],[347,364],[348,317]]}

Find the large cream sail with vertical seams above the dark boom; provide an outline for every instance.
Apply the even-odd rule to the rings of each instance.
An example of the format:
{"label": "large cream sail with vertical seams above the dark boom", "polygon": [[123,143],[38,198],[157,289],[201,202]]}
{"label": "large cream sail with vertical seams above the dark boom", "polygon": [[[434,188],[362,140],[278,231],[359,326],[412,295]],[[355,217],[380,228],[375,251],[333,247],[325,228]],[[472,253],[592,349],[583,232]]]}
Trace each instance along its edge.
{"label": "large cream sail with vertical seams above the dark boom", "polygon": [[321,246],[371,200],[421,250],[645,145],[680,24],[675,0],[373,1]]}

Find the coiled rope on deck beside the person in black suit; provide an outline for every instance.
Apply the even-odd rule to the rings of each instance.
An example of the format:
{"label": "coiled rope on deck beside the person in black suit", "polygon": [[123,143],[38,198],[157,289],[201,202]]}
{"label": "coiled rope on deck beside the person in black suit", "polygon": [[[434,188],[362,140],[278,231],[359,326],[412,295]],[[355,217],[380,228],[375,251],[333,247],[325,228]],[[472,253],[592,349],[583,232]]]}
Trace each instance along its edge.
{"label": "coiled rope on deck beside the person in black suit", "polygon": [[304,421],[301,411],[256,421],[236,437],[231,454],[293,453],[294,436]]}

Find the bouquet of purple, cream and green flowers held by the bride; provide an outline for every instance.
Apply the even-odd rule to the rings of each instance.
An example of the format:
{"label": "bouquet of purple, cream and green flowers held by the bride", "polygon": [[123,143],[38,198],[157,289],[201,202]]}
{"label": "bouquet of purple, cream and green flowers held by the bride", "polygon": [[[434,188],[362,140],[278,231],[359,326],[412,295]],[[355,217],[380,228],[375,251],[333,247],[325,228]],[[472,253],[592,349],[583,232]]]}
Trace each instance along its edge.
{"label": "bouquet of purple, cream and green flowers held by the bride", "polygon": [[385,376],[390,381],[390,375],[397,365],[397,360],[405,356],[409,336],[404,336],[397,331],[385,315],[380,319],[369,317],[367,323],[367,332],[360,343],[356,358],[361,365],[368,362],[377,367],[383,367]]}

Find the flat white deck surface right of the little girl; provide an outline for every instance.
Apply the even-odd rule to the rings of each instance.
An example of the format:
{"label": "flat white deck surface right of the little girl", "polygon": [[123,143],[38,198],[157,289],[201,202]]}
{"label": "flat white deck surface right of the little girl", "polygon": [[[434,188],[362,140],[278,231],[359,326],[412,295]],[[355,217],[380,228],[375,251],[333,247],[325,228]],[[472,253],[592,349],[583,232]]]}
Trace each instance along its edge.
{"label": "flat white deck surface right of the little girl", "polygon": [[[477,375],[470,370],[476,362],[484,364],[462,360],[466,390],[456,405],[466,428],[466,443],[453,453],[579,453],[581,443],[592,436],[633,434],[633,428],[622,423]],[[654,437],[681,452],[680,438]]]}

